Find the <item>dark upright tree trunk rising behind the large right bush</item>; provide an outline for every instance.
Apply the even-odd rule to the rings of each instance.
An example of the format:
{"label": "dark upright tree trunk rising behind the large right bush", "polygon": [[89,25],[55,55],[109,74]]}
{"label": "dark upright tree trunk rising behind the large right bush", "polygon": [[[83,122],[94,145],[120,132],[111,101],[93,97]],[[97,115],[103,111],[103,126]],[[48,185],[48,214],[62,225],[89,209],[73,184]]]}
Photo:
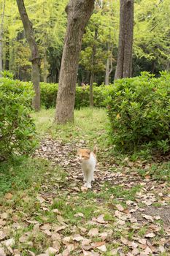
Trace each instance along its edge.
{"label": "dark upright tree trunk rising behind the large right bush", "polygon": [[131,77],[133,34],[134,0],[120,0],[120,34],[115,80]]}

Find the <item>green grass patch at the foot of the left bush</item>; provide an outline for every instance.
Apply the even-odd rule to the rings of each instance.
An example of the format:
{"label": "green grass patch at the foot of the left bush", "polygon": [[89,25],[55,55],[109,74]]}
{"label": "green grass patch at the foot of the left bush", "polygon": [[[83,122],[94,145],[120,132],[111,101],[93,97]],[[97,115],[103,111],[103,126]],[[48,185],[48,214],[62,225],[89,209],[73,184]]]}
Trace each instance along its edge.
{"label": "green grass patch at the foot of the left bush", "polygon": [[15,157],[0,165],[0,196],[9,191],[20,191],[34,184],[38,189],[50,163],[30,157]]}

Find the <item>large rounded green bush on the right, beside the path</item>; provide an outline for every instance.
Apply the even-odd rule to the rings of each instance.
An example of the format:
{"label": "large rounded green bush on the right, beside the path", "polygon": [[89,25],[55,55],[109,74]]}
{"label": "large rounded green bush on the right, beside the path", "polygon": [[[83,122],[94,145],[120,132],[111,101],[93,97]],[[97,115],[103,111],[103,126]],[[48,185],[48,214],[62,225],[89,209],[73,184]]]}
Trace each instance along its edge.
{"label": "large rounded green bush on the right, beside the path", "polygon": [[170,149],[170,74],[117,80],[107,99],[110,135],[119,151]]}

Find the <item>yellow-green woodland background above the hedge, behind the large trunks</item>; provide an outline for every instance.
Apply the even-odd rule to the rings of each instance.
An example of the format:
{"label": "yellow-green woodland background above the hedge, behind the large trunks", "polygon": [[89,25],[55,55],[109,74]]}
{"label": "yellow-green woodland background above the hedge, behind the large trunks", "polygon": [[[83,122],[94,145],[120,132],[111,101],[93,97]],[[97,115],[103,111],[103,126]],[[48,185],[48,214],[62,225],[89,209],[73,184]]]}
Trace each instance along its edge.
{"label": "yellow-green woodland background above the hedge, behind the large trunks", "polygon": [[[66,32],[67,0],[24,1],[41,59],[41,81],[58,83],[63,39]],[[77,83],[109,83],[115,76],[119,36],[117,0],[96,1],[93,15],[85,29],[77,74]],[[0,62],[20,80],[31,80],[28,42],[23,31],[16,1],[1,0]],[[134,1],[134,42],[132,76],[149,71],[156,76],[169,70],[169,0]],[[95,56],[93,48],[96,48]],[[108,69],[109,64],[109,69]],[[1,65],[0,65],[1,69]],[[108,71],[109,70],[109,71]]]}

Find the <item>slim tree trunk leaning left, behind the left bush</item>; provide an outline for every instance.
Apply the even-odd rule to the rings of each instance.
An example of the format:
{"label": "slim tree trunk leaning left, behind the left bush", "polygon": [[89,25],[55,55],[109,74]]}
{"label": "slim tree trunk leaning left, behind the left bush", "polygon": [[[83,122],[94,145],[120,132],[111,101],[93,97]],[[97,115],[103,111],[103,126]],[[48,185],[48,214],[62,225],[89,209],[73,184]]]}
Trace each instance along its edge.
{"label": "slim tree trunk leaning left, behind the left bush", "polygon": [[40,89],[39,89],[39,74],[40,74],[40,61],[39,61],[39,50],[36,45],[36,40],[34,37],[34,31],[31,21],[28,18],[26,7],[23,0],[17,0],[18,10],[20,12],[20,18],[23,22],[23,28],[26,33],[26,39],[31,50],[31,81],[34,84],[35,97],[33,99],[33,107],[36,111],[40,110]]}

